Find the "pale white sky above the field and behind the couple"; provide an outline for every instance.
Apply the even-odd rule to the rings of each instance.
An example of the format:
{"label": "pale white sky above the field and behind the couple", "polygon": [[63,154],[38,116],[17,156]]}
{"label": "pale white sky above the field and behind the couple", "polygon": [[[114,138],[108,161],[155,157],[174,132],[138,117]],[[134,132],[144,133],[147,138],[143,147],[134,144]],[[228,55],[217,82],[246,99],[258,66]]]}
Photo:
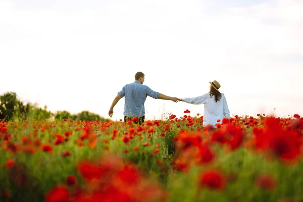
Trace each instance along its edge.
{"label": "pale white sky above the field and behind the couple", "polygon": [[[0,94],[109,118],[141,71],[145,85],[179,98],[217,80],[234,115],[302,116],[303,1],[210,2],[0,0]],[[124,98],[113,120],[123,107]],[[186,109],[204,106],[148,97],[145,117]]]}

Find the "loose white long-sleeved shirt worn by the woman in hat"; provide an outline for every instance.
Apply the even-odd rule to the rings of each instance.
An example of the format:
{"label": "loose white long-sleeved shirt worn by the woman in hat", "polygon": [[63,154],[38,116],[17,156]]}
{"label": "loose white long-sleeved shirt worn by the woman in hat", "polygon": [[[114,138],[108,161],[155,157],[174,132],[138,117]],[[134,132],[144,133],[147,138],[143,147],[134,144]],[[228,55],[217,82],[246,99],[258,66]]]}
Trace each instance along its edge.
{"label": "loose white long-sleeved shirt worn by the woman in hat", "polygon": [[[217,123],[222,123],[224,117],[230,119],[230,112],[223,93],[220,101],[217,103],[215,101],[215,95],[211,97],[210,92],[198,97],[182,98],[182,101],[193,105],[204,104],[203,126],[208,124],[215,126]],[[217,122],[218,119],[220,119],[220,122]]]}

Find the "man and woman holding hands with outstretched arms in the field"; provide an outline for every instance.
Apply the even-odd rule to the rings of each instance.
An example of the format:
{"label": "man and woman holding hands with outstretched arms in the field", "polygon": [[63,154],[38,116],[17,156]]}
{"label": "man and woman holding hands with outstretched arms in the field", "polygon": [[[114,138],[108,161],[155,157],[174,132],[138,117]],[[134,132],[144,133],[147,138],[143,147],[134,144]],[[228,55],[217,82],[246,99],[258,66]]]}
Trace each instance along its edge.
{"label": "man and woman holding hands with outstretched arms in the field", "polygon": [[144,82],[144,76],[145,75],[142,72],[137,72],[135,74],[135,81],[133,83],[126,84],[122,90],[118,92],[109,111],[110,117],[114,114],[115,105],[122,97],[125,96],[124,122],[131,120],[133,117],[137,117],[137,123],[142,124],[144,122],[145,114],[144,102],[148,95],[155,99],[172,100],[175,103],[183,101],[193,105],[204,104],[203,126],[211,124],[215,127],[218,123],[218,119],[220,119],[219,123],[222,123],[222,119],[224,117],[230,119],[225,95],[219,91],[219,88],[221,87],[219,82],[210,82],[210,92],[205,93],[204,95],[179,99],[177,97],[170,97],[159,92],[155,92],[148,86],[142,85]]}

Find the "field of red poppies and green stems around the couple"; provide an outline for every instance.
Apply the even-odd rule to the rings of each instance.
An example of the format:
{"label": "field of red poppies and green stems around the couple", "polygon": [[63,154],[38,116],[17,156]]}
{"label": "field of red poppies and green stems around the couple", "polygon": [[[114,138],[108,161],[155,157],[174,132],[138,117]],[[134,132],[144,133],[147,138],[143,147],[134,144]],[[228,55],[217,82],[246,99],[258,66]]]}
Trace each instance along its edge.
{"label": "field of red poppies and green stems around the couple", "polygon": [[303,118],[0,121],[0,201],[303,201]]}

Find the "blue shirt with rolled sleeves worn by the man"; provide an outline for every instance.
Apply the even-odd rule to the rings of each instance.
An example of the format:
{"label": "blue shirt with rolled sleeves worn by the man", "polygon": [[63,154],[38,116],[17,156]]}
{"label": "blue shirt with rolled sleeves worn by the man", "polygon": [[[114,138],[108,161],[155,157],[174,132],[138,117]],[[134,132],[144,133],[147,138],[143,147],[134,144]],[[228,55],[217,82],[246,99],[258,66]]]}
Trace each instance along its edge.
{"label": "blue shirt with rolled sleeves worn by the man", "polygon": [[126,84],[118,94],[121,97],[125,96],[124,116],[127,117],[142,117],[145,115],[144,103],[147,95],[158,99],[160,94],[151,90],[147,85],[135,81]]}

